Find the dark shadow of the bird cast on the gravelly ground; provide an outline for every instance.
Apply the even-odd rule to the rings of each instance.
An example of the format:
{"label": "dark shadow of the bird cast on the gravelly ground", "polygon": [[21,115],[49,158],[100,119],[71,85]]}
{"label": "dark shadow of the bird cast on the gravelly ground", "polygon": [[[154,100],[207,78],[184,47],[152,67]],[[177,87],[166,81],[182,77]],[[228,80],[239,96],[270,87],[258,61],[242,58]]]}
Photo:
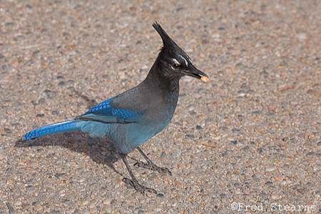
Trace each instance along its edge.
{"label": "dark shadow of the bird cast on the gravelly ground", "polygon": [[[96,106],[97,102],[93,99],[89,99],[87,96],[76,92],[78,96],[81,96],[86,101],[88,108]],[[108,142],[104,138],[92,138],[86,133],[81,131],[72,131],[70,133],[58,133],[49,136],[41,136],[34,140],[16,141],[15,147],[33,147],[33,146],[61,146],[68,148],[71,151],[82,153],[91,157],[91,159],[98,164],[106,164],[112,170],[119,175],[123,176],[116,168],[113,167],[113,163],[120,158],[113,143]]]}

